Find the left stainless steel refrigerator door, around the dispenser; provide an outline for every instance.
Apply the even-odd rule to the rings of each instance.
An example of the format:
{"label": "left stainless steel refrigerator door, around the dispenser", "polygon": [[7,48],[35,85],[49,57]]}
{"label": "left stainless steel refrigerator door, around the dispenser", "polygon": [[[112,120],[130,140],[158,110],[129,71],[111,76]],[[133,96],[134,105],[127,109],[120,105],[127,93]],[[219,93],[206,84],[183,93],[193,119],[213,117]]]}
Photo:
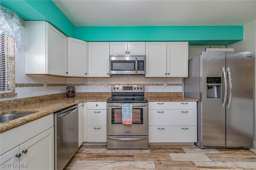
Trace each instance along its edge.
{"label": "left stainless steel refrigerator door, around the dispenser", "polygon": [[[222,68],[226,68],[226,52],[213,51],[202,52],[200,75],[202,76],[202,86],[200,87],[200,143],[202,146],[225,147],[226,146],[226,107],[223,106],[224,98],[224,76]],[[221,78],[221,97],[207,97],[209,89],[207,77]],[[209,85],[209,83],[208,83]],[[214,85],[214,84],[212,84]],[[208,90],[208,91],[207,91]],[[214,90],[214,88],[213,88]],[[217,95],[218,96],[218,95]],[[199,108],[198,108],[199,109]]]}

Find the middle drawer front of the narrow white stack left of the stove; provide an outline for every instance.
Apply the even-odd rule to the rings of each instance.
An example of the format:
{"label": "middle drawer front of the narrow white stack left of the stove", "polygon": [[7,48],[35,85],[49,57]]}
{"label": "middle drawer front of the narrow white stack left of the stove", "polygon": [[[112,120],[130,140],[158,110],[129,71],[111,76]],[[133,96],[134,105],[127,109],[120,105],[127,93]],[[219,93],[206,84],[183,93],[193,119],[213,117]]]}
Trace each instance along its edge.
{"label": "middle drawer front of the narrow white stack left of the stove", "polygon": [[107,125],[107,110],[88,110],[87,124],[106,126]]}

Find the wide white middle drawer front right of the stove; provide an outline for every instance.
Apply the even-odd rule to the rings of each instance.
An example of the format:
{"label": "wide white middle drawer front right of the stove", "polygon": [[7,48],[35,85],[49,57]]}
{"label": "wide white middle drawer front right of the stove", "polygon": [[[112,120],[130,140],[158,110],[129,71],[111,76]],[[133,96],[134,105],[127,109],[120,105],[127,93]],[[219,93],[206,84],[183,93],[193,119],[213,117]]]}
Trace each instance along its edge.
{"label": "wide white middle drawer front right of the stove", "polygon": [[148,110],[149,126],[196,126],[196,110]]}

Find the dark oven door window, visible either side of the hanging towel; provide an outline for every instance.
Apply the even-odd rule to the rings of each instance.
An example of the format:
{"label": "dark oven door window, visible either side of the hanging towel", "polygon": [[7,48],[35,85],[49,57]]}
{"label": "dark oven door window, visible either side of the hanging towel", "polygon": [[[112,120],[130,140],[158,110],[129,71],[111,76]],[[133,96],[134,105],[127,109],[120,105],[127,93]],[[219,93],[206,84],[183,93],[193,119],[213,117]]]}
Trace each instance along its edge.
{"label": "dark oven door window, visible either side of the hanging towel", "polygon": [[[122,109],[111,109],[112,124],[122,124]],[[143,109],[132,109],[132,124],[143,124]]]}

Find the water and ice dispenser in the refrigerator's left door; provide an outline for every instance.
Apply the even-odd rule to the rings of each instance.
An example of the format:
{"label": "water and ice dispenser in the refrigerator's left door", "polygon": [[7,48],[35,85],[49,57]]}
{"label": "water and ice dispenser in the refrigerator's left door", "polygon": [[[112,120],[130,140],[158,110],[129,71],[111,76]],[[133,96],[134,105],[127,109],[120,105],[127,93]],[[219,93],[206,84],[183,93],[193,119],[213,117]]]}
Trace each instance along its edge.
{"label": "water and ice dispenser in the refrigerator's left door", "polygon": [[206,97],[221,98],[221,77],[207,77]]}

